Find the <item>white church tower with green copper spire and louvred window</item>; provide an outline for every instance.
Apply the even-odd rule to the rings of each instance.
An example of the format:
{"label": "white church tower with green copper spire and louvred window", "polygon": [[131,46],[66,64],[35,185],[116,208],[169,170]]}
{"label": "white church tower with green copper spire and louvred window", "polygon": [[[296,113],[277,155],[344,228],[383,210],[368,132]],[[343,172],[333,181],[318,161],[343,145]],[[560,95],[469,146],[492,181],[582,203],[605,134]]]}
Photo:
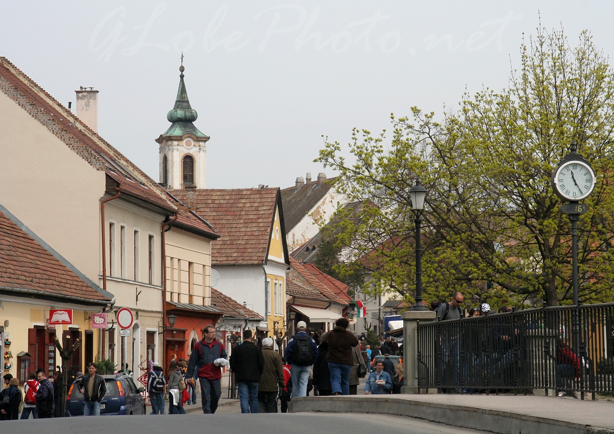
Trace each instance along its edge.
{"label": "white church tower with green copper spire and louvred window", "polygon": [[209,136],[193,124],[198,114],[188,100],[184,71],[182,56],[177,99],[173,110],[166,114],[171,126],[156,139],[160,145],[160,184],[167,190],[206,188],[205,153]]}

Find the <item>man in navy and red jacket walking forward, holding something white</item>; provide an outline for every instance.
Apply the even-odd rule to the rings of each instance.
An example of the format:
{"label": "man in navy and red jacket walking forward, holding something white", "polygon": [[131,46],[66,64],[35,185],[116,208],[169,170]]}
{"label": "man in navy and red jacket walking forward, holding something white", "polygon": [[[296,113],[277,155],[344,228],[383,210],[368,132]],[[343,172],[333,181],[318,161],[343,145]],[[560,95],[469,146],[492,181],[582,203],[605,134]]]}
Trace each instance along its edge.
{"label": "man in navy and red jacket walking forward, holding something white", "polygon": [[216,339],[216,328],[209,324],[204,327],[204,338],[192,350],[188,362],[187,378],[196,376],[200,382],[201,403],[204,414],[216,413],[217,403],[222,396],[221,366],[227,366],[226,347]]}

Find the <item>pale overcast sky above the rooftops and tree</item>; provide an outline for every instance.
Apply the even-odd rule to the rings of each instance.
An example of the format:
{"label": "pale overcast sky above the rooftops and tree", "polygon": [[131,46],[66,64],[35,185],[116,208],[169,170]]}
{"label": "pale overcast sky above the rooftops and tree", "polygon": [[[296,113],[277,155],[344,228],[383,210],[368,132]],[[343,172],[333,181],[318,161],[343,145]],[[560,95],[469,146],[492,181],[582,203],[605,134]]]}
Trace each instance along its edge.
{"label": "pale overcast sky above the rooftops and tree", "polygon": [[588,29],[614,55],[607,1],[69,1],[1,8],[0,55],[74,110],[99,91],[98,133],[154,180],[184,53],[207,187],[292,187],[324,139],[391,130],[390,114],[454,110],[506,87],[541,26]]}

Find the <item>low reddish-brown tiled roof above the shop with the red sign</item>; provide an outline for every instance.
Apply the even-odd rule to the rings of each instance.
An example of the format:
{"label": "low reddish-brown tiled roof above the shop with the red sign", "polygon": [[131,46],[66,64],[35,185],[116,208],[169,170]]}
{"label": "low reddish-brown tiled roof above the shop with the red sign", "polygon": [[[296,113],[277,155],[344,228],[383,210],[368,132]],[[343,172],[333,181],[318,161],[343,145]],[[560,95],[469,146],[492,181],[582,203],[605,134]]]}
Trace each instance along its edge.
{"label": "low reddish-brown tiled roof above the shop with the red sign", "polygon": [[111,300],[93,286],[0,211],[0,290],[67,298],[79,304]]}

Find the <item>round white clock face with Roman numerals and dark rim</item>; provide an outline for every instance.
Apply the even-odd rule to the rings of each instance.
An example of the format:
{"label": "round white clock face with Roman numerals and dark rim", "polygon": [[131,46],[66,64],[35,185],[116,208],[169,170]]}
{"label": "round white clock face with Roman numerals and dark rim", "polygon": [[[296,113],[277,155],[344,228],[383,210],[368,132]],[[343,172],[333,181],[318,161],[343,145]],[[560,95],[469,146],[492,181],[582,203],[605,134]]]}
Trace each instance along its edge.
{"label": "round white clock face with Roman numerals and dark rim", "polygon": [[562,199],[579,201],[595,188],[595,173],[585,161],[565,161],[553,175],[554,192]]}

